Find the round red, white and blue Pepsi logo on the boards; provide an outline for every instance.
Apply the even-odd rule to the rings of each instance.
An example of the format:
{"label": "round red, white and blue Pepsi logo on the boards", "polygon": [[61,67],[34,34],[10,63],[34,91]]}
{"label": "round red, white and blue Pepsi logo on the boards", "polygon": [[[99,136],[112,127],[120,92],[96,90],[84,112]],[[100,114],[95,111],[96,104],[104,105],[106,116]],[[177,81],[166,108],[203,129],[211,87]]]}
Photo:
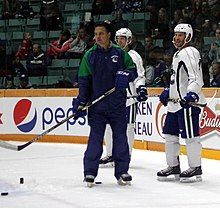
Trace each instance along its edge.
{"label": "round red, white and blue Pepsi logo on the boards", "polygon": [[32,101],[22,99],[18,101],[14,108],[14,123],[22,132],[30,132],[37,122],[37,111],[33,107]]}

